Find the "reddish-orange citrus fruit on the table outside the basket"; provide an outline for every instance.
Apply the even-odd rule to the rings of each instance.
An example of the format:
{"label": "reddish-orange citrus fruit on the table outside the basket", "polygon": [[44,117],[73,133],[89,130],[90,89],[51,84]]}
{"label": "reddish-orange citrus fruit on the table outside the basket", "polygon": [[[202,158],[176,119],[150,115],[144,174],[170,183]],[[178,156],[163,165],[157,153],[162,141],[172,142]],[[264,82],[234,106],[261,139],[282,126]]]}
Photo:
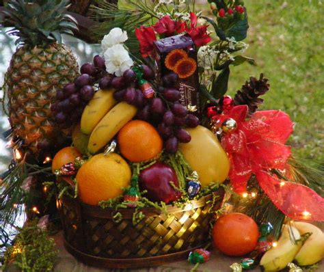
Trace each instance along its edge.
{"label": "reddish-orange citrus fruit on the table outside the basket", "polygon": [[256,247],[258,238],[258,225],[243,213],[222,215],[213,227],[215,247],[229,256],[243,256],[249,253]]}

